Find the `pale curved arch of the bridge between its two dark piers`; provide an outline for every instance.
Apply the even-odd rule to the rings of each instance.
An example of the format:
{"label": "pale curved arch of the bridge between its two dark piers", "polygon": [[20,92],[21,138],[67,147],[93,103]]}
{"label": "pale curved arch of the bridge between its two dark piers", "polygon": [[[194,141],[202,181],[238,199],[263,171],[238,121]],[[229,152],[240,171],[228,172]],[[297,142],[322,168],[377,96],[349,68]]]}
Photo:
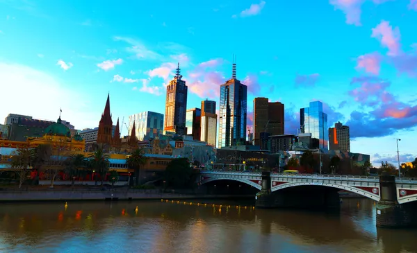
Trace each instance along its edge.
{"label": "pale curved arch of the bridge between its two dark piers", "polygon": [[316,182],[288,182],[285,184],[280,184],[278,186],[273,186],[271,188],[271,192],[279,191],[281,189],[296,187],[296,186],[327,186],[332,188],[337,188],[345,191],[350,191],[352,193],[357,193],[359,195],[363,195],[366,198],[370,198],[375,201],[379,201],[380,199],[380,193],[379,193],[379,187],[375,187],[378,189],[378,195],[370,193],[368,191],[356,188],[354,186],[347,186],[347,185],[340,185],[340,184],[331,184],[331,183],[316,183]]}

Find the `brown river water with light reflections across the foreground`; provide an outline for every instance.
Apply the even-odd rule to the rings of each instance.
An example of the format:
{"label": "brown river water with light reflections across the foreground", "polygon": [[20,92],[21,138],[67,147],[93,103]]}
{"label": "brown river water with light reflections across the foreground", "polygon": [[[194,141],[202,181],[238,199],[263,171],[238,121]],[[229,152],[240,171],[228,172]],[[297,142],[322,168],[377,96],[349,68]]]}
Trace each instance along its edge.
{"label": "brown river water with light reflections across the foreground", "polygon": [[0,252],[417,252],[416,229],[375,227],[372,200],[345,199],[338,214],[250,204],[0,204]]}

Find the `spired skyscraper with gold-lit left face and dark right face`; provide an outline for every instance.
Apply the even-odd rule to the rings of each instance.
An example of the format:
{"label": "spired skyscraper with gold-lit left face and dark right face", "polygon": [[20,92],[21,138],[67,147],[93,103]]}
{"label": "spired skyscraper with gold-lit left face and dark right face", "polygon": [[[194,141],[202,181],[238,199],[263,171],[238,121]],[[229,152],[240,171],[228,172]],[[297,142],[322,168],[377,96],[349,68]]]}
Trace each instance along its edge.
{"label": "spired skyscraper with gold-lit left face and dark right face", "polygon": [[167,97],[165,100],[165,124],[164,132],[186,134],[186,111],[188,87],[186,81],[181,80],[179,63],[177,75],[167,85]]}

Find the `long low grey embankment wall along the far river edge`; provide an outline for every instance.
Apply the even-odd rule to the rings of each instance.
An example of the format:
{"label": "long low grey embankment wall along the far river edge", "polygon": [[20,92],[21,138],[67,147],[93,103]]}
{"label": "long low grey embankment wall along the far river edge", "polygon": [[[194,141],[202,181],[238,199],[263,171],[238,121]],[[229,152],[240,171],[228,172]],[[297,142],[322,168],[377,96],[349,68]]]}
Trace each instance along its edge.
{"label": "long low grey embankment wall along the far river edge", "polygon": [[72,200],[186,200],[204,198],[252,198],[252,195],[208,195],[161,193],[159,190],[118,191],[0,191],[0,202],[72,201]]}

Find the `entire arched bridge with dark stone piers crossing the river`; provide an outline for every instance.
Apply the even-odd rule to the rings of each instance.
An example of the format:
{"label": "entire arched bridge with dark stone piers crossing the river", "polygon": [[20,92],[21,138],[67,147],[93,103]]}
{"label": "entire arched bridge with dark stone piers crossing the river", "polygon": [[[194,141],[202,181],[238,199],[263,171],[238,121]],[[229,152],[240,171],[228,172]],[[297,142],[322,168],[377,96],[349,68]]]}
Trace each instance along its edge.
{"label": "entire arched bridge with dark stone piers crossing the river", "polygon": [[257,207],[325,204],[340,207],[338,191],[344,190],[378,202],[378,227],[417,226],[417,178],[356,175],[316,175],[201,171],[199,183],[233,180],[259,190]]}

